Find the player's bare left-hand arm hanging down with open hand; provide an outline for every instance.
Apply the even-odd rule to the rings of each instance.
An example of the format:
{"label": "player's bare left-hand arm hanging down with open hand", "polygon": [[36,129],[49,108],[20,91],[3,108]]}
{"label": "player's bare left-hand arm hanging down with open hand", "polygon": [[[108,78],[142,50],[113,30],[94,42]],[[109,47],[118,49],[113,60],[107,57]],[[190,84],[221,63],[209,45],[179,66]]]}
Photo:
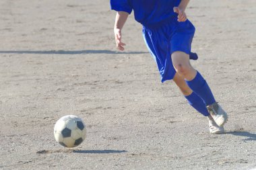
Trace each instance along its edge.
{"label": "player's bare left-hand arm hanging down with open hand", "polygon": [[118,11],[115,19],[115,26],[114,26],[115,40],[117,43],[117,48],[121,51],[125,50],[125,48],[123,48],[123,46],[125,46],[125,43],[121,41],[121,38],[122,38],[121,30],[125,25],[128,15],[129,13],[127,12]]}

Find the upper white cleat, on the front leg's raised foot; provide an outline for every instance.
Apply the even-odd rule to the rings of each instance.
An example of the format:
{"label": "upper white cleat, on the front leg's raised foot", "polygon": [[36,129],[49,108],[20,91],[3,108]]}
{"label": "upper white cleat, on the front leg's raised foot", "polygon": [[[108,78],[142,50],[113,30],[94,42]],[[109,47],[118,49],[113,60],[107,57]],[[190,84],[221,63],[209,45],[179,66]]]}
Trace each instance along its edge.
{"label": "upper white cleat, on the front leg's raised foot", "polygon": [[207,105],[207,110],[216,122],[216,124],[222,127],[228,120],[228,114],[220,107],[220,105],[215,102],[211,105]]}

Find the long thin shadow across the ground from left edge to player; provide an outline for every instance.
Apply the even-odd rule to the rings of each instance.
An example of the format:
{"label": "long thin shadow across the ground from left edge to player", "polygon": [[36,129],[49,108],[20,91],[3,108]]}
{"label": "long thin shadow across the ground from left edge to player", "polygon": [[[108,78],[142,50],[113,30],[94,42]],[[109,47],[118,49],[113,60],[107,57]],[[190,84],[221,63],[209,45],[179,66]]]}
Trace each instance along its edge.
{"label": "long thin shadow across the ground from left edge to player", "polygon": [[119,52],[113,50],[0,50],[0,54],[146,54],[143,51]]}

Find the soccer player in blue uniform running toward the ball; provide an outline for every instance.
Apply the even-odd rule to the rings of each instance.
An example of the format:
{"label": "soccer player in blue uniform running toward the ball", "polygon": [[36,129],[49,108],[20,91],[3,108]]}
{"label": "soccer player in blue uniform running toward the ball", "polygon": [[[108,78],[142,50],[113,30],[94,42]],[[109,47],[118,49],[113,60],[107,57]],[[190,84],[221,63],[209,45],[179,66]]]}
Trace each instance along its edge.
{"label": "soccer player in blue uniform running toward the ball", "polygon": [[135,20],[142,25],[143,38],[162,77],[162,83],[173,80],[199,113],[209,120],[210,133],[224,132],[228,116],[216,102],[207,82],[195,70],[189,58],[195,27],[185,13],[189,0],[110,0],[111,9],[117,11],[115,40],[119,50],[125,50],[121,30],[127,17],[134,12]]}

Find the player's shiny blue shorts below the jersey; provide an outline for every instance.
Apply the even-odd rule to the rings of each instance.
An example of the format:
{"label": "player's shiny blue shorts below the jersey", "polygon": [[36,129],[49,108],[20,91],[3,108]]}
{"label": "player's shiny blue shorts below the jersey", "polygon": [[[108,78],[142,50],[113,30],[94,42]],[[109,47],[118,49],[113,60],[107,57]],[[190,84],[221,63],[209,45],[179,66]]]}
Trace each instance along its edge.
{"label": "player's shiny blue shorts below the jersey", "polygon": [[175,51],[191,54],[195,27],[188,19],[178,22],[174,17],[156,26],[143,26],[142,32],[146,46],[158,66],[161,81],[173,79],[176,71],[170,56]]}

